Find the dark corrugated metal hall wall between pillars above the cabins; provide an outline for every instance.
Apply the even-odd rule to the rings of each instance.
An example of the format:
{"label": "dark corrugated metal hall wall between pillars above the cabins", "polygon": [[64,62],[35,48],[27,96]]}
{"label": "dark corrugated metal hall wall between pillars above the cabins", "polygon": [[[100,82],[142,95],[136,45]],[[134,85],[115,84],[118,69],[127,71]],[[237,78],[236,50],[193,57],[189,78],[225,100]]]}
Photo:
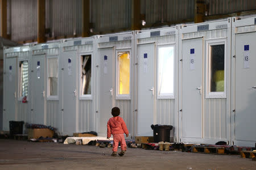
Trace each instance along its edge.
{"label": "dark corrugated metal hall wall between pillars above the cabins", "polygon": [[[37,35],[37,1],[8,0],[7,30],[14,41],[35,40]],[[141,0],[141,14],[147,27],[159,23],[182,22],[194,18],[195,1]],[[209,15],[255,10],[255,0],[206,0]],[[46,0],[47,36],[81,35],[82,1]],[[93,32],[121,31],[131,28],[131,0],[90,0]]]}

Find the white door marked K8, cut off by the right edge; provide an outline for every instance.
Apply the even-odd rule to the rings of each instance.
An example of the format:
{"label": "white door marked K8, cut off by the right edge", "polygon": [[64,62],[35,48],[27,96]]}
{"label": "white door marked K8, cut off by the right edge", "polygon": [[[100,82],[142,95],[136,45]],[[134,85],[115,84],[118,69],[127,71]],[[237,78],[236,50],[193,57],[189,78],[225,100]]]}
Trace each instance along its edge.
{"label": "white door marked K8, cut off by the right edge", "polygon": [[235,67],[235,144],[255,146],[256,32],[236,35]]}

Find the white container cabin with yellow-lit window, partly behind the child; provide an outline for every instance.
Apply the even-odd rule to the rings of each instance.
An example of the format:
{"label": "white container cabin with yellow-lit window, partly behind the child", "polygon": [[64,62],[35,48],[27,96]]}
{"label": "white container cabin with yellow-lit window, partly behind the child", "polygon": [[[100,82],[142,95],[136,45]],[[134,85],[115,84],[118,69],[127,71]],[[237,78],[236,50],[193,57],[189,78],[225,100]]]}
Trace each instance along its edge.
{"label": "white container cabin with yellow-lit window, partly behind the child", "polygon": [[134,136],[134,32],[97,38],[97,132],[106,136],[112,107],[119,107],[130,137]]}

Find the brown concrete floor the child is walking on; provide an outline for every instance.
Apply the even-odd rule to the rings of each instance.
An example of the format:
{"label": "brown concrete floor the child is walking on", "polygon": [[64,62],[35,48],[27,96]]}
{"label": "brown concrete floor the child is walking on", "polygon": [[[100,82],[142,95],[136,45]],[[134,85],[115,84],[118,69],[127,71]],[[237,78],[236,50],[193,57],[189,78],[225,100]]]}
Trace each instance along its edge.
{"label": "brown concrete floor the child is walking on", "polygon": [[240,155],[196,154],[128,148],[123,157],[112,148],[0,139],[0,169],[256,169]]}

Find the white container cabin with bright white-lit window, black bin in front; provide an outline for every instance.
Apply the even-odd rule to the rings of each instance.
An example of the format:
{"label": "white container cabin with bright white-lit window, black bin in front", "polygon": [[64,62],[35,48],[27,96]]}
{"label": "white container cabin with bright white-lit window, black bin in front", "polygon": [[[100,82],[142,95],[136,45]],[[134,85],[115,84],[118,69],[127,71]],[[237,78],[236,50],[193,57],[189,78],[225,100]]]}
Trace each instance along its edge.
{"label": "white container cabin with bright white-lit window, black bin in front", "polygon": [[135,40],[135,134],[152,136],[152,124],[172,125],[172,141],[177,130],[178,25],[137,31]]}

